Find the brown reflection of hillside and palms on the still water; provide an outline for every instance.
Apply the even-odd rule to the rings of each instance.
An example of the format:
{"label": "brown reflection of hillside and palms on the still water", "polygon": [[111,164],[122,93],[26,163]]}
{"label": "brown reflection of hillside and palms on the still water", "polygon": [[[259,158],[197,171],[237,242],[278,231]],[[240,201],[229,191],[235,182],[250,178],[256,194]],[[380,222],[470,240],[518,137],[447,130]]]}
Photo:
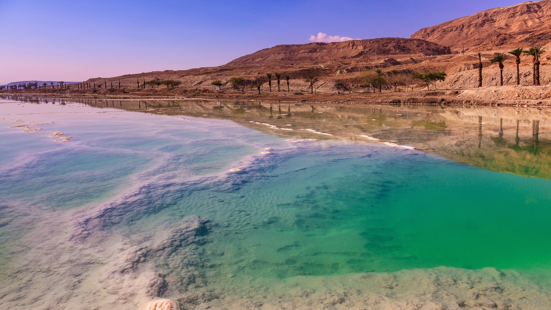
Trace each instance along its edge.
{"label": "brown reflection of hillside and palms on the still water", "polygon": [[538,109],[183,100],[80,101],[98,107],[144,111],[163,108],[156,112],[230,119],[291,138],[374,142],[366,137],[375,137],[496,172],[551,179],[548,124],[551,113]]}

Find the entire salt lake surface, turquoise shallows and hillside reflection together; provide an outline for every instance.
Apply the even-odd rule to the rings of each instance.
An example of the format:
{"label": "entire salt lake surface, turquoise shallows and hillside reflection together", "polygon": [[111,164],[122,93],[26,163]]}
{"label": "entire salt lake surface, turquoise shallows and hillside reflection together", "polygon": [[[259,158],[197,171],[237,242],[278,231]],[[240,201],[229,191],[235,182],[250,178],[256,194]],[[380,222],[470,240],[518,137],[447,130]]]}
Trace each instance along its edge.
{"label": "entire salt lake surface, turquoise shallows and hillside reflection together", "polygon": [[551,306],[546,111],[46,100],[0,102],[3,306],[462,308],[476,285],[429,300],[412,279],[493,287],[484,268],[497,306]]}

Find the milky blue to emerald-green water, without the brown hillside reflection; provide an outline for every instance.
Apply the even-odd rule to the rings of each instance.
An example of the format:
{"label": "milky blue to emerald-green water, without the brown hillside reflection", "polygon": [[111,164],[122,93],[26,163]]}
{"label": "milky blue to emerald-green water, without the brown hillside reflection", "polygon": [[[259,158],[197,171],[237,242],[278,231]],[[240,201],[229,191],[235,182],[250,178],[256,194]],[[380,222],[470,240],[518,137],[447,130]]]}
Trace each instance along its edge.
{"label": "milky blue to emerald-green water, without the brown hillside reflection", "polygon": [[[197,287],[247,291],[255,281],[297,276],[551,269],[547,179],[381,144],[293,142],[230,120],[51,103],[27,103],[33,114],[24,114],[14,100],[0,105],[2,286],[18,287],[11,282],[15,261],[33,261],[41,240],[29,236],[47,239],[57,228],[76,236],[78,225],[105,248],[93,252],[98,259],[103,252],[122,256],[106,252],[118,240],[144,249],[161,244],[143,261],[163,274],[158,296],[168,297]],[[7,128],[19,124],[14,119],[48,122],[30,127],[62,131],[71,141]],[[262,155],[267,147],[271,154]],[[190,216],[205,223],[193,236],[155,241]],[[73,240],[58,239],[45,255],[78,260],[94,248]],[[56,279],[45,281],[50,277]]]}

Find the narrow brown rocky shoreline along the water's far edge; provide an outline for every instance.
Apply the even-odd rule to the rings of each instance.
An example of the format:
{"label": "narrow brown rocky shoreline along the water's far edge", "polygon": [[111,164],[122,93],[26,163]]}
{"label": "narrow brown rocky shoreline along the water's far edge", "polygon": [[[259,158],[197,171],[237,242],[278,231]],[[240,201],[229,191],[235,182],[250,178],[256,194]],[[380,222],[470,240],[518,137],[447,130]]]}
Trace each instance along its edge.
{"label": "narrow brown rocky shoreline along the water's far edge", "polygon": [[544,86],[504,86],[477,89],[446,89],[436,91],[383,93],[316,93],[263,92],[186,88],[121,88],[121,89],[26,89],[3,90],[3,95],[85,95],[94,97],[146,97],[152,99],[276,101],[286,103],[332,104],[411,104],[411,105],[488,105],[488,106],[549,106],[551,89]]}

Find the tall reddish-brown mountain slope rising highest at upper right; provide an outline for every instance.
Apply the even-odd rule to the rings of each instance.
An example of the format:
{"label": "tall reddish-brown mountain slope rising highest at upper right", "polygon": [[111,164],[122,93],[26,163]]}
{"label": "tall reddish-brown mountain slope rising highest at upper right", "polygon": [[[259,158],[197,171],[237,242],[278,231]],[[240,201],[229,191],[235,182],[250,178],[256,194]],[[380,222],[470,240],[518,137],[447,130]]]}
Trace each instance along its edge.
{"label": "tall reddish-brown mountain slope rising highest at upper right", "polygon": [[412,39],[465,49],[545,45],[551,41],[551,0],[495,8],[421,29]]}

